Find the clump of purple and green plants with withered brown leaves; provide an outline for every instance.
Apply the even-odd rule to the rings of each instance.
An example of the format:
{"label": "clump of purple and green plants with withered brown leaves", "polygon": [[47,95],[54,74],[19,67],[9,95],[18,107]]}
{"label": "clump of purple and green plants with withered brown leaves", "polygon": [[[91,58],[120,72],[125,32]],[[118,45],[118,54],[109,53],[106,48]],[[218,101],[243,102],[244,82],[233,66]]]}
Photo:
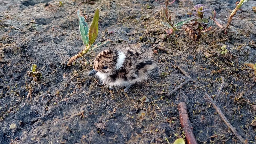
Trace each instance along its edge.
{"label": "clump of purple and green plants with withered brown leaves", "polygon": [[[175,31],[185,30],[192,40],[198,40],[201,33],[209,31],[212,28],[212,20],[208,20],[204,16],[211,16],[211,10],[205,9],[202,4],[198,4],[194,8],[196,11],[194,13],[188,13],[190,15],[189,18],[179,21],[176,24],[172,24],[171,17],[168,18],[168,10],[163,8],[163,16],[168,23],[161,24],[169,28],[167,29],[167,34],[175,34]],[[193,17],[191,17],[192,14],[194,14]],[[179,26],[182,26],[182,28],[178,28]]]}

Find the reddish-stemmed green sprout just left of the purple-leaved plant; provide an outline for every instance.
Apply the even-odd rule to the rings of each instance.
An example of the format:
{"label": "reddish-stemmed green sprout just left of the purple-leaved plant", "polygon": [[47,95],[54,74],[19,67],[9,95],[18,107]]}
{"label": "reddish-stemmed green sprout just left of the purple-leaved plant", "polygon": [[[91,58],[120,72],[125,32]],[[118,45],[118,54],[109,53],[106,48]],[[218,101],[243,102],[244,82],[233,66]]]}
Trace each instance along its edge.
{"label": "reddish-stemmed green sprout just left of the purple-leaved plant", "polygon": [[191,21],[192,19],[194,19],[194,17],[190,17],[190,18],[187,18],[185,20],[182,20],[182,21],[179,21],[179,22],[173,24],[171,16],[168,17],[168,10],[166,8],[163,8],[163,16],[164,16],[164,19],[167,21],[167,23],[162,22],[161,24],[163,24],[164,26],[167,26],[169,28],[167,30],[168,34],[174,34],[175,31],[182,30],[178,27],[183,26],[184,24],[186,24],[189,21]]}

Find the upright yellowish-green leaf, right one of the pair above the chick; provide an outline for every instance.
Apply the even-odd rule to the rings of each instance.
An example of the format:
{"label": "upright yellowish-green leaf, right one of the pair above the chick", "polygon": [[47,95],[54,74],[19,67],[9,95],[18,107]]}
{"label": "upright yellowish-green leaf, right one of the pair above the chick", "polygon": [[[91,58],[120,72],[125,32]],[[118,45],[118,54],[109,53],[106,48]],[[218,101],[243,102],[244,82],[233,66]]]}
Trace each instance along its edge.
{"label": "upright yellowish-green leaf, right one of the pair above the chick", "polygon": [[89,45],[92,45],[98,35],[98,26],[99,26],[99,9],[96,9],[96,12],[93,17],[92,25],[89,30]]}

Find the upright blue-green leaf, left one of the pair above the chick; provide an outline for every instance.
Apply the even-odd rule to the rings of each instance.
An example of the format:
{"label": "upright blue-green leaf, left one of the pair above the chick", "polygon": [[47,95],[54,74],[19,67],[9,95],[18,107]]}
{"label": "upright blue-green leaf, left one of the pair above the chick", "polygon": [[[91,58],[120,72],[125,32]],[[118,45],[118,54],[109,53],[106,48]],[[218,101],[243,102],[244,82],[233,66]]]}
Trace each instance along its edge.
{"label": "upright blue-green leaf, left one of the pair above the chick", "polygon": [[84,43],[84,45],[88,46],[88,44],[89,44],[88,24],[85,21],[85,18],[79,14],[79,10],[77,11],[77,16],[79,18],[79,30],[80,30],[80,34],[82,36],[83,43]]}

